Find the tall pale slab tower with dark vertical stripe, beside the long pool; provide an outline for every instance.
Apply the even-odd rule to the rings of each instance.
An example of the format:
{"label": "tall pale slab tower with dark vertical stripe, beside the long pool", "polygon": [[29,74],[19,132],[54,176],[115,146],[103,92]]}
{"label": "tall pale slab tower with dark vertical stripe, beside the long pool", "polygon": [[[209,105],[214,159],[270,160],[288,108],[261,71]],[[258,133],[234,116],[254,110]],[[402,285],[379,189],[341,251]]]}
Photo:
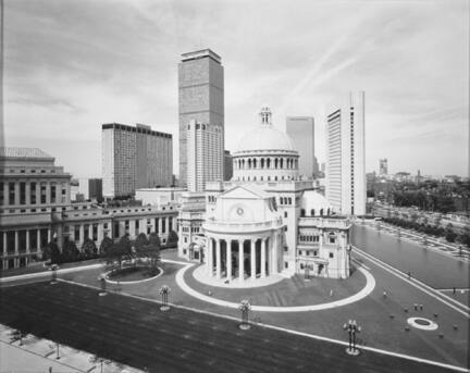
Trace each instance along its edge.
{"label": "tall pale slab tower with dark vertical stripe, beside the long pool", "polygon": [[326,198],[345,215],[366,213],[364,92],[327,111]]}

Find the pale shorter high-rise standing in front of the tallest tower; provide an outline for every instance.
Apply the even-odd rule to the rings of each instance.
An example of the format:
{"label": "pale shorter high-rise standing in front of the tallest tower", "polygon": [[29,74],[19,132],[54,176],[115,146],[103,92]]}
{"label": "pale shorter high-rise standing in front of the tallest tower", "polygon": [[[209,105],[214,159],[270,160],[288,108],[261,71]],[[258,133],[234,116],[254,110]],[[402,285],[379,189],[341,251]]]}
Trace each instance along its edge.
{"label": "pale shorter high-rise standing in front of the tallest tower", "polygon": [[187,187],[203,191],[207,182],[223,179],[223,128],[191,120],[186,126]]}

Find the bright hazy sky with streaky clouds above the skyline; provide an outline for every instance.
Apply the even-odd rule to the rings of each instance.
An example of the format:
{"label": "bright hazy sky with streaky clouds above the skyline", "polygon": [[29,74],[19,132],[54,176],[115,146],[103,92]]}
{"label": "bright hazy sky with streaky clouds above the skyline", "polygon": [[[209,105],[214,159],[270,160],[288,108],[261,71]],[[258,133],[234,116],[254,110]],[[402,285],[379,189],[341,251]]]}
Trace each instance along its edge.
{"label": "bright hazy sky with streaky clouds above the skyline", "polygon": [[[316,121],[366,91],[366,170],[469,172],[469,1],[4,0],[7,146],[37,147],[75,177],[101,176],[101,124],[173,134],[177,63],[211,48],[225,74],[225,147],[261,105]],[[1,133],[0,133],[1,135]]]}

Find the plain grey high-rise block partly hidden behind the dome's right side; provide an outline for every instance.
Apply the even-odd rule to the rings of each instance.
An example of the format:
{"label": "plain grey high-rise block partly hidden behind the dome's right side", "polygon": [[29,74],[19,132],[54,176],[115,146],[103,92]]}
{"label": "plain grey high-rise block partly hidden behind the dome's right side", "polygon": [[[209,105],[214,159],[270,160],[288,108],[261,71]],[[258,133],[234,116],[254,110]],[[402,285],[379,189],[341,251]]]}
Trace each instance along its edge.
{"label": "plain grey high-rise block partly hidden behind the dome's right side", "polygon": [[313,117],[287,116],[286,133],[299,152],[299,174],[311,178],[316,173]]}

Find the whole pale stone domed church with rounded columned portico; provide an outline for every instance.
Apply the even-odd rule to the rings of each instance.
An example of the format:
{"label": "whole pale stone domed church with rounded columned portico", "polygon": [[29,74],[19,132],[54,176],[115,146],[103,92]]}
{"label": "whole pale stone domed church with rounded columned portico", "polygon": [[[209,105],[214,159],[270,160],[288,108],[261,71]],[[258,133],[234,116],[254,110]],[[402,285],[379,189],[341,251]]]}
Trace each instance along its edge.
{"label": "whole pale stone domed church with rounded columned portico", "polygon": [[[349,220],[335,214],[313,181],[299,178],[295,144],[273,127],[270,109],[259,116],[233,153],[232,181],[207,183],[198,256],[206,275],[234,286],[305,272],[348,277]],[[190,260],[190,240],[180,243],[180,256]]]}

